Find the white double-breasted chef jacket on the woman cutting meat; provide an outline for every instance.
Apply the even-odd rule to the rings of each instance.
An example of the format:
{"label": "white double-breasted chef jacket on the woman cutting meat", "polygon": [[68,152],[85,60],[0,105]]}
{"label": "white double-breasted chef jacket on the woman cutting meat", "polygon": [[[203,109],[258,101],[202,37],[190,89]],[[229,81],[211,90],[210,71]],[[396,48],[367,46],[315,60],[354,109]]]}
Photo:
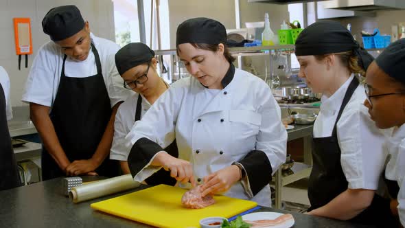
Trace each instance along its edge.
{"label": "white double-breasted chef jacket on the woman cutting meat", "polygon": [[[273,173],[286,161],[287,132],[281,124],[279,105],[263,80],[240,69],[235,69],[233,79],[222,90],[207,89],[194,77],[172,84],[132,127],[126,137],[128,147],[143,137],[162,148],[176,139],[178,158],[190,161],[201,180],[255,149],[266,154]],[[159,170],[150,166],[152,160],[135,175],[135,181]],[[271,205],[270,186],[253,196],[249,179],[224,194]]]}

